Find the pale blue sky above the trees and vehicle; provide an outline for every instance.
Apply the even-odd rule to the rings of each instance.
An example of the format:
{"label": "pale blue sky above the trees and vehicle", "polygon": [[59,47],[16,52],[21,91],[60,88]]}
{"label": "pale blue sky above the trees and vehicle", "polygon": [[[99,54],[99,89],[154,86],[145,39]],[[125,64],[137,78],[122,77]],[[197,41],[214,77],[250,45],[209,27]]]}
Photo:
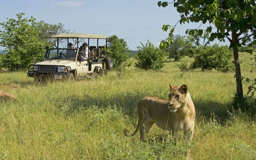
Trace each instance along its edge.
{"label": "pale blue sky above the trees and vehicle", "polygon": [[[155,46],[168,37],[162,31],[163,24],[174,25],[179,14],[170,4],[159,8],[158,0],[0,0],[0,22],[16,18],[24,12],[36,21],[64,24],[75,33],[117,35],[128,47],[136,50],[147,40]],[[186,29],[198,28],[200,24],[177,24],[174,34],[186,35]],[[205,26],[201,26],[204,29]],[[2,30],[0,26],[0,30]],[[218,41],[216,41],[219,43]],[[94,42],[90,41],[90,44]],[[104,42],[102,42],[104,44]],[[0,47],[0,49],[3,49]]]}

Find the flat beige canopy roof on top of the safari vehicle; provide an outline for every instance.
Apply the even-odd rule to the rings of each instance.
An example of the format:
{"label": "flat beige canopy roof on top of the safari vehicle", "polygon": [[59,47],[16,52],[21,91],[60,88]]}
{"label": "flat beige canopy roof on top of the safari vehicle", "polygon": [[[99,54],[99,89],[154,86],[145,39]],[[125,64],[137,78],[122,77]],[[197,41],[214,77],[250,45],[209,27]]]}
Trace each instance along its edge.
{"label": "flat beige canopy roof on top of the safari vehicle", "polygon": [[100,34],[85,34],[85,33],[62,33],[55,36],[48,36],[48,38],[96,38],[106,39],[105,35]]}

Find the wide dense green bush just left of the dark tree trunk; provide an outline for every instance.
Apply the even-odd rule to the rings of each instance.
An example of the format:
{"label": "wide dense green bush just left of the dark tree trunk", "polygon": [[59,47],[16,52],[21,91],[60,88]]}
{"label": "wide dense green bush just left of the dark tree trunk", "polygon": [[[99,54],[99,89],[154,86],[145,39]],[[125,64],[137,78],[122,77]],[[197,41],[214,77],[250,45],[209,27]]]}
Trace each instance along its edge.
{"label": "wide dense green bush just left of the dark tree trunk", "polygon": [[194,62],[190,65],[191,69],[200,68],[201,70],[215,69],[221,72],[234,70],[232,64],[232,52],[227,46],[200,46],[191,49],[190,57],[194,58]]}

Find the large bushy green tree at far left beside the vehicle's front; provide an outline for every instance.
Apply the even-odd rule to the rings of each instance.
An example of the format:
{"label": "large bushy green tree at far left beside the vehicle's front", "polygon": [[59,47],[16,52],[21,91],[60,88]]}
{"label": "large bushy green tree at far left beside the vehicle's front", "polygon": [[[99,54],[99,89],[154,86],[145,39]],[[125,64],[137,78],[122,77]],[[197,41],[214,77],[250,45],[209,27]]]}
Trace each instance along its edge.
{"label": "large bushy green tree at far left beside the vehicle's front", "polygon": [[32,16],[22,18],[24,13],[16,14],[17,19],[7,18],[6,22],[0,23],[0,46],[8,50],[2,58],[2,67],[9,70],[27,68],[33,59],[42,58],[46,41],[38,36],[38,30],[31,25],[35,22]]}

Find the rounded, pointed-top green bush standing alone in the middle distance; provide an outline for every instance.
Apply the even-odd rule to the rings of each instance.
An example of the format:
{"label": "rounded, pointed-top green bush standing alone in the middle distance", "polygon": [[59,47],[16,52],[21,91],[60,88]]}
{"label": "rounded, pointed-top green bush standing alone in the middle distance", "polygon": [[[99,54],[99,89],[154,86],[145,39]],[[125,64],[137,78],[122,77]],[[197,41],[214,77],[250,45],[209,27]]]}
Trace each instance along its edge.
{"label": "rounded, pointed-top green bush standing alone in the middle distance", "polygon": [[138,60],[138,62],[135,63],[135,66],[144,70],[159,70],[163,68],[165,52],[157,47],[155,48],[149,40],[146,42],[146,45],[142,44],[142,42],[140,42],[140,44],[142,46],[137,47],[138,52],[135,59]]}

